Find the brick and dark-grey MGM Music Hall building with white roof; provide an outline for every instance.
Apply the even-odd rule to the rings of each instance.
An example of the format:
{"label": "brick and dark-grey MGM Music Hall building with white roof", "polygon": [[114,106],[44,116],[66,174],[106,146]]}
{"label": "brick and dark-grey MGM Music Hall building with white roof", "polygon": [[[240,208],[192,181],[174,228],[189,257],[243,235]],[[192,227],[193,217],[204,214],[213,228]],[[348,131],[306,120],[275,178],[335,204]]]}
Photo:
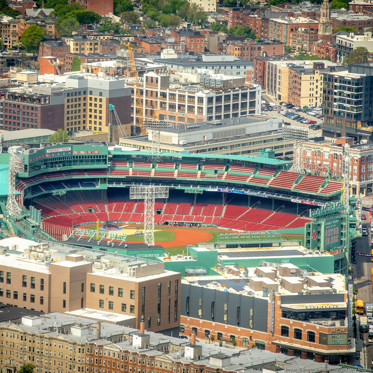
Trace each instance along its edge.
{"label": "brick and dark-grey MGM Music Hall building with white roof", "polygon": [[[347,342],[344,276],[315,273],[300,277],[300,269],[294,264],[247,271],[248,278],[240,280],[246,283],[243,286],[252,296],[237,288],[224,292],[225,286],[220,284],[225,279],[221,276],[211,279],[218,284],[215,287],[194,285],[193,277],[183,279],[181,333],[186,336],[194,333],[197,339],[206,341],[214,335],[217,340],[234,340],[238,346],[248,348],[255,344],[263,350],[301,359],[327,360],[333,364],[346,361],[351,351]],[[336,292],[328,288],[329,283]],[[320,287],[325,294],[319,293]],[[321,304],[325,309],[320,312]],[[320,319],[325,322],[321,323]],[[338,345],[324,340],[331,341],[336,334],[339,334]]]}

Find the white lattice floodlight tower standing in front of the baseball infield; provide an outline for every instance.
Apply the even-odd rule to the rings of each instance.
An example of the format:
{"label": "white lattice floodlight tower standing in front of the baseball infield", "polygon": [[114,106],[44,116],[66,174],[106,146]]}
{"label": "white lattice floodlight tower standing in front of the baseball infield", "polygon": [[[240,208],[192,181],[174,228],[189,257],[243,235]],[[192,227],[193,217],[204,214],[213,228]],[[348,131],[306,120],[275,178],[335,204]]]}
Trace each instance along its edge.
{"label": "white lattice floodlight tower standing in front of the baseball infield", "polygon": [[168,198],[168,186],[136,185],[129,188],[131,200],[144,200],[144,244],[154,246],[154,201]]}

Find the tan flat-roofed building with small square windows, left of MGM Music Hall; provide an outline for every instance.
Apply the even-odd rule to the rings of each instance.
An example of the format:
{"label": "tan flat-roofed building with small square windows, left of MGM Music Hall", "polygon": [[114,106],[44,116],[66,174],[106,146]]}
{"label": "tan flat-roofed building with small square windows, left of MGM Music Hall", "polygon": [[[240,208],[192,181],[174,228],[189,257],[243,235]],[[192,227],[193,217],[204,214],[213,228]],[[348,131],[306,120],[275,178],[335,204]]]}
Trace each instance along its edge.
{"label": "tan flat-roofed building with small square windows, left of MGM Music Hall", "polygon": [[[42,253],[44,251],[44,253]],[[42,312],[81,308],[136,317],[149,330],[180,325],[180,280],[164,263],[106,253],[61,254],[47,245],[0,252],[0,303]],[[37,260],[36,260],[37,258]]]}

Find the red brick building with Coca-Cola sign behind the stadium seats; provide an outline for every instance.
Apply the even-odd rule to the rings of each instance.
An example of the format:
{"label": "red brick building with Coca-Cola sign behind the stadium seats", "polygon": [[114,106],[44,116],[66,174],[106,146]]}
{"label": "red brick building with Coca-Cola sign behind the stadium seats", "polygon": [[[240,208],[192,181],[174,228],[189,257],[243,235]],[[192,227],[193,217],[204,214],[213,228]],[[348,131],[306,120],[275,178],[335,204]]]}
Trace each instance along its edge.
{"label": "red brick building with Coca-Cola sign behind the stadium seats", "polygon": [[[350,144],[351,193],[373,191],[373,143],[355,144],[352,137],[339,137],[336,142],[304,142],[301,144],[303,165],[307,171],[342,178],[343,145]],[[308,167],[308,168],[307,168]]]}

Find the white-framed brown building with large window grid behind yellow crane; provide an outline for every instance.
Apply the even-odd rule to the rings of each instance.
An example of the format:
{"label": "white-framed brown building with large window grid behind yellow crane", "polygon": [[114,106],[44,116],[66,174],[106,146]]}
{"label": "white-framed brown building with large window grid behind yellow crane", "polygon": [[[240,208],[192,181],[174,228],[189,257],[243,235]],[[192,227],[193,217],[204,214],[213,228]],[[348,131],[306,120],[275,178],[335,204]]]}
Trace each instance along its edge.
{"label": "white-framed brown building with large window grid behind yellow crane", "polygon": [[[260,114],[260,85],[246,82],[246,77],[223,74],[202,74],[192,82],[188,74],[171,81],[169,75],[144,74],[142,102],[145,118],[151,118],[160,96],[159,119],[171,124],[188,125],[204,120],[220,120],[248,114]],[[251,71],[250,71],[251,77]],[[195,78],[195,77],[194,77]],[[133,93],[132,93],[133,95]],[[131,132],[139,133],[137,115],[133,113]]]}

